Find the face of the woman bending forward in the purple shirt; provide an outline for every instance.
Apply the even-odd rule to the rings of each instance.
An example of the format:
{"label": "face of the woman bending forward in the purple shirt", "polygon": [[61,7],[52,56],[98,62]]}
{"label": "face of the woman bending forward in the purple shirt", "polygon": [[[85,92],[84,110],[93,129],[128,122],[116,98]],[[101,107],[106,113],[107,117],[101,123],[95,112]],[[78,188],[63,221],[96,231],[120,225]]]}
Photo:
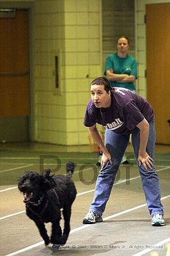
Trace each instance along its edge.
{"label": "face of the woman bending forward in the purple shirt", "polygon": [[91,85],[91,99],[96,108],[111,106],[111,92],[104,89],[104,85]]}

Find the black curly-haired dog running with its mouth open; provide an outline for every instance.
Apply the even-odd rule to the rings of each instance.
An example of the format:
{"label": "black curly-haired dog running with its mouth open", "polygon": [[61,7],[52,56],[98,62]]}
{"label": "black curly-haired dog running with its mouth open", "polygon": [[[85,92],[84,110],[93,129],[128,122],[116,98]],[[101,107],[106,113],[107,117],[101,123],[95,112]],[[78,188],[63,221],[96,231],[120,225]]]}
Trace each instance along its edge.
{"label": "black curly-haired dog running with its mouth open", "polygon": [[[71,205],[76,197],[76,188],[71,176],[74,163],[66,164],[67,175],[50,176],[50,170],[43,175],[28,171],[20,177],[18,188],[24,194],[26,213],[35,221],[45,245],[64,245],[70,233]],[[65,221],[62,233],[59,221],[63,208]],[[52,235],[49,238],[45,223],[52,222]]]}

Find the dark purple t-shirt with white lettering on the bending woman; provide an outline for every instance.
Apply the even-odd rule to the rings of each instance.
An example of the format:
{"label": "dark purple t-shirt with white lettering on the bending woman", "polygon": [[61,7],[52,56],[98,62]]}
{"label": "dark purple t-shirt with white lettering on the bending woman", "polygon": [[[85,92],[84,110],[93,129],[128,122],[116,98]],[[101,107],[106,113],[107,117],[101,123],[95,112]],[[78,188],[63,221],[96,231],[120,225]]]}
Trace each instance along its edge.
{"label": "dark purple t-shirt with white lettering on the bending woman", "polygon": [[141,96],[126,88],[114,87],[111,91],[111,106],[108,109],[96,108],[92,100],[87,104],[84,125],[95,123],[118,134],[129,134],[138,129],[139,122],[146,118],[149,122],[154,116],[151,105]]}

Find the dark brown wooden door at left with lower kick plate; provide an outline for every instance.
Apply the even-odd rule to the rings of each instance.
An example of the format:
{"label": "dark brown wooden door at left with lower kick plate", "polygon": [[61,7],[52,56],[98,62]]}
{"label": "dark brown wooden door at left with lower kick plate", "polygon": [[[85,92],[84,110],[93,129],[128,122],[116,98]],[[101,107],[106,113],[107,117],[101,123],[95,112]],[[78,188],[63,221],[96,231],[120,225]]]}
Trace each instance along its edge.
{"label": "dark brown wooden door at left with lower kick plate", "polygon": [[0,140],[27,141],[28,10],[16,10],[15,18],[0,18],[0,33]]}

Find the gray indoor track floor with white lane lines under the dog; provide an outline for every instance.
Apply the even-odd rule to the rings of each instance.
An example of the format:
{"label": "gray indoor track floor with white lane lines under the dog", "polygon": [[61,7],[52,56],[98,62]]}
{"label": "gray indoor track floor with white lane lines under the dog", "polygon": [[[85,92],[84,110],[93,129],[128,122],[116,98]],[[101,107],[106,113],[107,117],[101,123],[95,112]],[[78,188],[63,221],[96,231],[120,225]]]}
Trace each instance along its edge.
{"label": "gray indoor track floor with white lane lines under the dog", "polygon": [[[131,146],[126,152],[130,165],[120,166],[103,215],[104,221],[83,225],[82,218],[92,201],[97,175],[97,156],[87,154],[88,151],[86,146],[66,148],[38,143],[1,145],[0,255],[166,255],[170,243],[170,146],[155,148],[166,222],[164,227],[151,226]],[[72,208],[71,233],[66,245],[59,250],[44,246],[35,224],[25,215],[23,196],[16,187],[17,177],[25,170],[40,170],[40,156],[46,156],[45,167],[55,170],[53,161],[56,159],[47,159],[49,155],[61,159],[60,171],[63,173],[67,160],[77,163],[73,179],[78,195]],[[46,228],[50,233],[50,224]]]}

